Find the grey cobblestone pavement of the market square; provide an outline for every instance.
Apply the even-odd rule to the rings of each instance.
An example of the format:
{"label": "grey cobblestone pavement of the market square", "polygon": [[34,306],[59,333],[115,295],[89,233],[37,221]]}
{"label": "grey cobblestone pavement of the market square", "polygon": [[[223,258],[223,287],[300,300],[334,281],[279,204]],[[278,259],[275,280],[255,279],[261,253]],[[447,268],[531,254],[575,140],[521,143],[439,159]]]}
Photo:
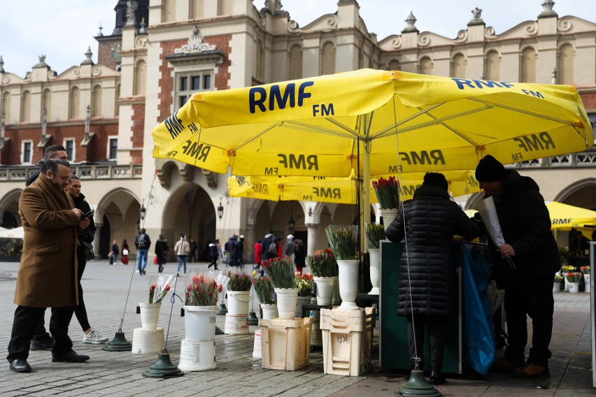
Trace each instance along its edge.
{"label": "grey cobblestone pavement of the market square", "polygon": [[[189,268],[206,268],[190,264]],[[0,263],[0,303],[5,308],[0,319],[0,345],[6,352],[13,322],[13,294],[18,264]],[[166,265],[175,274],[176,265]],[[94,329],[113,338],[124,315],[122,331],[132,341],[133,329],[141,326],[136,305],[146,301],[149,277],[157,275],[150,266],[146,276],[134,266],[109,266],[106,261],[87,264],[83,276],[85,305]],[[181,284],[180,284],[181,285]],[[182,288],[176,291],[182,294]],[[128,291],[130,289],[130,294]],[[57,291],[58,293],[58,291]],[[162,303],[159,327],[168,334],[166,348],[172,363],[178,363],[184,322],[180,317],[182,303]],[[255,305],[255,309],[257,306]],[[258,310],[255,310],[258,312]],[[171,314],[171,321],[170,319]],[[46,312],[46,324],[50,310]],[[589,294],[555,294],[555,327],[551,349],[549,380],[516,380],[508,374],[489,372],[484,377],[464,375],[448,377],[448,383],[437,387],[444,396],[594,396],[592,388]],[[218,316],[218,327],[224,329],[224,316]],[[169,330],[169,333],[168,333]],[[372,370],[360,377],[325,375],[322,352],[311,352],[306,368],[295,371],[264,370],[261,360],[253,359],[254,331],[248,335],[216,335],[218,367],[215,370],[185,373],[183,377],[155,379],[142,376],[152,366],[155,354],[106,352],[102,345],[83,344],[83,331],[76,318],[71,322],[73,349],[88,354],[90,361],[80,364],[52,363],[51,352],[36,351],[29,355],[31,373],[13,373],[5,361],[0,370],[1,396],[394,396],[405,382],[406,373],[381,370],[374,356]],[[497,352],[502,354],[502,351]]]}

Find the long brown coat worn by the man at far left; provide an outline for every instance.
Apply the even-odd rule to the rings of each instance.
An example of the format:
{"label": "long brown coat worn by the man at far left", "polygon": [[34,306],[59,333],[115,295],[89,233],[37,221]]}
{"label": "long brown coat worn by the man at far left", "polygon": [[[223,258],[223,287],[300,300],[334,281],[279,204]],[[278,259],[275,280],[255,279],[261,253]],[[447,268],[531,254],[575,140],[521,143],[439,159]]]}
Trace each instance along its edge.
{"label": "long brown coat worn by the man at far left", "polygon": [[77,217],[72,198],[40,175],[19,199],[23,255],[15,303],[32,308],[78,304]]}

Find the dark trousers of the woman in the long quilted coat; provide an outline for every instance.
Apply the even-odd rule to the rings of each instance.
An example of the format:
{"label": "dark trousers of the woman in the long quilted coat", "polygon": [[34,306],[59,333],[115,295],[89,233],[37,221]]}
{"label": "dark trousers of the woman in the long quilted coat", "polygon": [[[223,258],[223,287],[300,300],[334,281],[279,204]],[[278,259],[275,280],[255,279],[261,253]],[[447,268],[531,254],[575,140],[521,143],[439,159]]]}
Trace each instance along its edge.
{"label": "dark trousers of the woman in the long quilted coat", "polygon": [[[415,363],[414,357],[420,358],[419,370],[423,369],[424,359],[424,331],[428,331],[428,347],[430,352],[430,366],[443,368],[443,354],[445,349],[447,317],[441,316],[408,316],[408,345],[410,352],[410,365]],[[416,330],[416,345],[414,345],[414,331]]]}

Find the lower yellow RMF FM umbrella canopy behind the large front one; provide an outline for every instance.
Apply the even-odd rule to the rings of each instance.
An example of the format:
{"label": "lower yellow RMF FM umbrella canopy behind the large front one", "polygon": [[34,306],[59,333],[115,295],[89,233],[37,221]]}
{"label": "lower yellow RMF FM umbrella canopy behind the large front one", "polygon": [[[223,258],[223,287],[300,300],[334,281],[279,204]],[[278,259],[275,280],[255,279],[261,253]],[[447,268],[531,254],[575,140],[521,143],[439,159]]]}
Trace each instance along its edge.
{"label": "lower yellow RMF FM umbrella canopy behind the large front one", "polygon": [[[480,192],[474,171],[445,171],[452,196]],[[390,175],[383,175],[388,179]],[[412,198],[414,190],[422,185],[424,173],[393,175],[401,186],[401,198]],[[353,172],[349,178],[300,176],[239,176],[228,178],[230,197],[260,198],[270,201],[316,201],[319,203],[357,203],[358,179]],[[372,183],[369,191],[373,191]],[[377,203],[371,194],[371,203]]]}

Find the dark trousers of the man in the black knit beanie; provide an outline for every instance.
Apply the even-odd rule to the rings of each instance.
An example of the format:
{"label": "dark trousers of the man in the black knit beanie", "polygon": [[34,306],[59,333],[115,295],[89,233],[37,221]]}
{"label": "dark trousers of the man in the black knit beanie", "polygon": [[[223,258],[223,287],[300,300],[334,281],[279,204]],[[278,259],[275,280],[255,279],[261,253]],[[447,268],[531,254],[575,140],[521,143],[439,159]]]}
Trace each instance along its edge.
{"label": "dark trousers of the man in the black knit beanie", "polygon": [[505,358],[523,362],[527,344],[527,316],[532,319],[532,347],[527,361],[548,366],[553,333],[553,275],[548,275],[520,287],[505,289],[505,314],[509,346]]}

